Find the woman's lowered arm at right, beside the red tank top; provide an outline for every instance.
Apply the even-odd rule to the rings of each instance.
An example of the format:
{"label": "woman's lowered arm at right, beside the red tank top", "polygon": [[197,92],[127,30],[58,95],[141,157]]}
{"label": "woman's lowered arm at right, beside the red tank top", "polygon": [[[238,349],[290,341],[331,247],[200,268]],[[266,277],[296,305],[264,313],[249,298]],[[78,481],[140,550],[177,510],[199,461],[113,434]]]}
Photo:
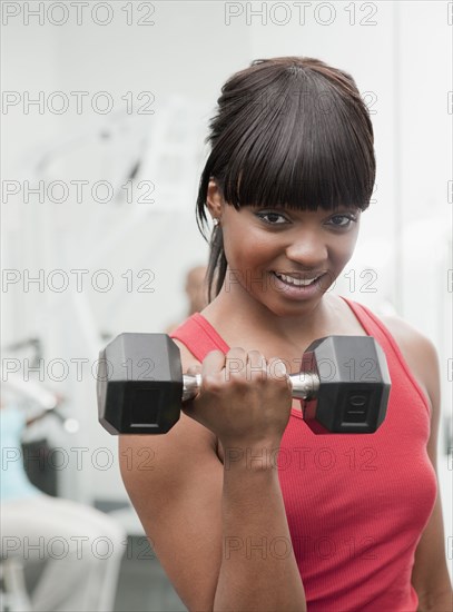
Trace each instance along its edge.
{"label": "woman's lowered arm at right, beside the red tank top", "polygon": [[[412,326],[395,317],[383,318],[395,337],[415,378],[431,404],[431,434],[427,454],[437,475],[440,421],[440,368],[433,344]],[[452,585],[446,566],[445,536],[440,494],[415,552],[412,584],[418,595],[417,612],[453,610]]]}

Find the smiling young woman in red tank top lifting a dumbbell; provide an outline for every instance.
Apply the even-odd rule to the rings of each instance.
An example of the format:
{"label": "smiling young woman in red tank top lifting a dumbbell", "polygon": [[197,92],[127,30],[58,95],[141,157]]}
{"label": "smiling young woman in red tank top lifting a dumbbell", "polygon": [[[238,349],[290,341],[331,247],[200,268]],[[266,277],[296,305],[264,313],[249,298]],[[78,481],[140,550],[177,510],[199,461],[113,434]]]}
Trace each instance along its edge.
{"label": "smiling young woman in red tank top lifting a dumbbell", "polygon": [[[168,434],[120,441],[155,453],[122,476],[163,566],[193,611],[450,610],[435,349],[327,292],[375,178],[354,80],[315,59],[257,60],[223,87],[209,142],[197,213],[215,224],[214,299],[173,334],[201,389]],[[328,335],[385,352],[375,434],[315,435],[292,402],[286,374]]]}

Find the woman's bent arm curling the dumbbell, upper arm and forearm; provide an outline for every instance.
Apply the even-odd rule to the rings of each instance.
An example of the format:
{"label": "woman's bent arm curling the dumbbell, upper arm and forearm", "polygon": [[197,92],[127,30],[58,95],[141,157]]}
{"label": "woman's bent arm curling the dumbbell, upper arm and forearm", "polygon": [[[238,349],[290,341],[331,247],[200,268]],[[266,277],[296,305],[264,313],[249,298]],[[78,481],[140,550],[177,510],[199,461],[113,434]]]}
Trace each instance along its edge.
{"label": "woman's bent arm curling the dumbbell, upper arm and forearm", "polygon": [[[183,363],[187,369],[187,358]],[[256,391],[258,398],[262,391]],[[233,402],[233,395],[229,398]],[[249,405],[245,399],[237,407],[244,413]],[[264,414],[265,406],[256,405]],[[210,399],[200,414],[209,418],[210,411],[227,407]],[[278,472],[252,461],[270,456],[267,443],[246,441],[228,438],[221,464],[216,436],[181,414],[168,434],[121,436],[122,478],[161,565],[189,610],[305,612]],[[278,542],[289,553],[280,554]]]}

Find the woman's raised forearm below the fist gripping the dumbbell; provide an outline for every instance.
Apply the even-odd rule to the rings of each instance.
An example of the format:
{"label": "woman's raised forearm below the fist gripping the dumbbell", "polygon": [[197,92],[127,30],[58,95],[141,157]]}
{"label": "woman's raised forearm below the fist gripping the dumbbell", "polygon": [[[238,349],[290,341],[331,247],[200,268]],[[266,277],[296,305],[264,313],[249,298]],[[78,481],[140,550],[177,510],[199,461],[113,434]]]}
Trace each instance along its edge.
{"label": "woman's raised forearm below the fist gripping the dumbbell", "polygon": [[266,448],[226,448],[225,455],[214,610],[305,612],[276,466]]}

